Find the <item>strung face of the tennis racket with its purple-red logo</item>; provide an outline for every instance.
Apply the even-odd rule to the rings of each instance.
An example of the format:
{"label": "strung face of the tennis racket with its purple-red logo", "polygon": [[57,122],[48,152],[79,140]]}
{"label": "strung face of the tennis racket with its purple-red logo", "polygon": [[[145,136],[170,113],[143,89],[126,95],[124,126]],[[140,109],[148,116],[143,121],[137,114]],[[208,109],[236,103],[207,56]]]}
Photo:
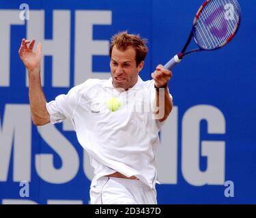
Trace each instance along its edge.
{"label": "strung face of the tennis racket with its purple-red logo", "polygon": [[240,8],[235,0],[211,0],[203,8],[195,26],[197,44],[204,49],[223,46],[238,29],[239,15]]}

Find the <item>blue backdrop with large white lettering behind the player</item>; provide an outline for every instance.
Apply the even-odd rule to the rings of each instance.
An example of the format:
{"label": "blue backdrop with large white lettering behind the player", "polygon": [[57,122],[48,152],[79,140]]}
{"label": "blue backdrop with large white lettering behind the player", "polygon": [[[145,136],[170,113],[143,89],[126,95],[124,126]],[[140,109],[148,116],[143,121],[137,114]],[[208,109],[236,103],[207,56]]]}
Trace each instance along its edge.
{"label": "blue backdrop with large white lettering behind the player", "polygon": [[[141,78],[150,79],[159,63],[180,51],[202,2],[26,1],[29,20],[22,19],[22,3],[0,1],[0,202],[88,204],[91,169],[70,125],[31,124],[21,39],[42,42],[43,89],[50,101],[86,78],[109,77],[109,40],[119,31],[147,38]],[[175,110],[161,134],[160,204],[256,203],[256,2],[240,6],[241,27],[228,46],[191,55],[173,70]],[[186,155],[190,143],[198,156]],[[193,161],[199,166],[190,170]],[[26,185],[20,181],[29,182],[29,196],[22,195]]]}

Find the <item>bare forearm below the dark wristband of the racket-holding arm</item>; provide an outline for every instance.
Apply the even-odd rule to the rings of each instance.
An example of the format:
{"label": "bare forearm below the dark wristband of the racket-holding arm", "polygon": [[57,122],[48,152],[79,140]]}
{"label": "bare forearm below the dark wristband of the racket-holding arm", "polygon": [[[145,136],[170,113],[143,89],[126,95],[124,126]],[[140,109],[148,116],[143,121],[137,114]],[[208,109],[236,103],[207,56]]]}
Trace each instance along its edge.
{"label": "bare forearm below the dark wristband of the racket-holding arm", "polygon": [[165,121],[173,109],[173,102],[167,88],[165,91],[156,90],[156,108],[158,109],[156,110],[156,119],[160,122]]}

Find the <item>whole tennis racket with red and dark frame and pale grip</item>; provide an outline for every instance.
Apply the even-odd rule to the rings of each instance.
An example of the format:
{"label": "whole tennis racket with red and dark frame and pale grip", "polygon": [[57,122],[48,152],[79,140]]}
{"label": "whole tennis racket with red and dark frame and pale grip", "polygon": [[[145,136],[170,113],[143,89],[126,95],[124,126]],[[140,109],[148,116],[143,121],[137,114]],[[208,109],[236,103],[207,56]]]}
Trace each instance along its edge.
{"label": "whole tennis racket with red and dark frame and pale grip", "polygon": [[[236,0],[206,0],[197,11],[193,27],[182,51],[168,61],[164,68],[172,69],[184,56],[205,50],[217,50],[236,35],[241,20]],[[198,48],[186,51],[194,38]]]}

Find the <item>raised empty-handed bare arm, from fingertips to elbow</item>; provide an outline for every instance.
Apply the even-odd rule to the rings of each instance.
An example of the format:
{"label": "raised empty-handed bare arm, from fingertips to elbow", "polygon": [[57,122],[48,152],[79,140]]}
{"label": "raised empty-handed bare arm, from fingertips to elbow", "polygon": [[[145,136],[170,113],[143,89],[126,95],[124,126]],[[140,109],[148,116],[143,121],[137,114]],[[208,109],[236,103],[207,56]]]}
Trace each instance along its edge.
{"label": "raised empty-handed bare arm, from fingertips to elbow", "polygon": [[50,115],[46,110],[46,99],[40,78],[42,44],[38,44],[38,48],[33,52],[34,44],[35,40],[30,42],[23,39],[18,54],[29,72],[29,103],[33,124],[44,125],[50,122]]}

